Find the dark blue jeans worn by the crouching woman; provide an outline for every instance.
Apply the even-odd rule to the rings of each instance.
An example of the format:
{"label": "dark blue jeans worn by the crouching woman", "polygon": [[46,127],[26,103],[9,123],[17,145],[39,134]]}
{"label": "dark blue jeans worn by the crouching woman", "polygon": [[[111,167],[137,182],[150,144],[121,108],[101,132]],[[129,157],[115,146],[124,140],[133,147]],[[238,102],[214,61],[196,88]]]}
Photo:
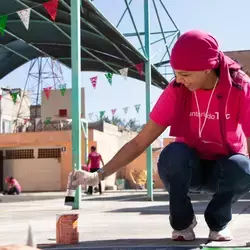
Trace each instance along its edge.
{"label": "dark blue jeans worn by the crouching woman", "polygon": [[250,160],[241,154],[216,161],[199,159],[185,143],[166,146],[158,162],[159,176],[169,192],[170,224],[175,230],[189,227],[194,217],[188,192],[209,191],[213,198],[205,210],[205,220],[220,231],[232,219],[232,204],[250,190]]}

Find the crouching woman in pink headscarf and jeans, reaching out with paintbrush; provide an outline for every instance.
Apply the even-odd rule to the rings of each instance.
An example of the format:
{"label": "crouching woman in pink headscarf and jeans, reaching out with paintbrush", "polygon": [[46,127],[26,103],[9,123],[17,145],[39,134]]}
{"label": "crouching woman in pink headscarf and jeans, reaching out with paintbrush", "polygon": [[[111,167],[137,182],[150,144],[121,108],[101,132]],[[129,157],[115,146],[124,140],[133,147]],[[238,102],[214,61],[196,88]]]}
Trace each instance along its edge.
{"label": "crouching woman in pink headscarf and jeans, reaching out with paintbrush", "polygon": [[117,172],[170,127],[176,139],[162,150],[158,173],[169,192],[172,240],[195,239],[197,221],[188,194],[204,190],[212,194],[204,212],[208,239],[229,241],[232,204],[250,191],[250,78],[211,34],[200,30],[178,38],[170,63],[175,79],[140,133],[98,172],[76,171],[73,185],[95,185]]}

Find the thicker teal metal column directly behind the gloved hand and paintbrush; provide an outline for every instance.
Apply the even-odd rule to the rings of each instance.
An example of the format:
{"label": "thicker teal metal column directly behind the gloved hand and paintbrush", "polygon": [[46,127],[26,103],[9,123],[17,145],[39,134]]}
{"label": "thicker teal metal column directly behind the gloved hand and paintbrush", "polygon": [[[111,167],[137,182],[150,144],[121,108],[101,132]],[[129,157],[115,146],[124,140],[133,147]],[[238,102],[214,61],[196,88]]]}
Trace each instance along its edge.
{"label": "thicker teal metal column directly behind the gloved hand and paintbrush", "polygon": [[[80,0],[71,0],[71,79],[72,79],[72,166],[81,169],[81,19]],[[73,209],[79,209],[81,188],[78,187]]]}

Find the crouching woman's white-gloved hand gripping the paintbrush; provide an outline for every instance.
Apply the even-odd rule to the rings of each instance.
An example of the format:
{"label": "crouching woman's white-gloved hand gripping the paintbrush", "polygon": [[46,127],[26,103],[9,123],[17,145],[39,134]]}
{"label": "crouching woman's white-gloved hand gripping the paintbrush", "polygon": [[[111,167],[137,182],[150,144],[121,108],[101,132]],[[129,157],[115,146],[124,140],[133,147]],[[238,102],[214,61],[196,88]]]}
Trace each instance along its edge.
{"label": "crouching woman's white-gloved hand gripping the paintbrush", "polygon": [[[71,175],[72,173],[70,173]],[[80,185],[95,186],[100,182],[98,172],[90,173],[85,170],[75,170],[73,172],[72,186],[78,187]]]}

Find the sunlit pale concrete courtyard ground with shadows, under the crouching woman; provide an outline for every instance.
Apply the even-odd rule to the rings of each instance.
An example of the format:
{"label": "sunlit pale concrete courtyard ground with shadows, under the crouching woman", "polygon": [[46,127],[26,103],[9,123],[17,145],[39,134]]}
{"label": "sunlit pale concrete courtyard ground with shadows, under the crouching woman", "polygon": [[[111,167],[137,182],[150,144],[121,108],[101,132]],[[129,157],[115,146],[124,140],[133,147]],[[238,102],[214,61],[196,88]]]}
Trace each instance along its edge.
{"label": "sunlit pale concrete courtyard ground with shadows, under the crouching woman", "polygon": [[[58,194],[59,195],[59,194]],[[29,223],[38,244],[55,243],[56,215],[71,213],[64,206],[64,195],[51,200],[11,202],[0,197],[0,243],[25,243]],[[49,194],[47,194],[49,196]],[[59,196],[54,196],[59,197]],[[234,234],[231,242],[208,242],[208,229],[203,212],[208,204],[208,195],[191,195],[199,224],[195,228],[197,240],[189,243],[171,241],[169,225],[168,195],[156,192],[155,201],[147,201],[141,191],[106,193],[102,196],[82,196],[79,211],[80,245],[78,247],[101,249],[100,247],[122,246],[246,246],[250,242],[250,195],[244,197],[233,208],[230,228]],[[15,199],[12,197],[11,199]],[[20,198],[17,198],[20,199]],[[12,200],[14,201],[14,200]],[[98,248],[97,248],[98,246]],[[68,247],[69,248],[69,247]],[[130,248],[132,249],[132,248]],[[146,248],[145,248],[146,249]]]}

